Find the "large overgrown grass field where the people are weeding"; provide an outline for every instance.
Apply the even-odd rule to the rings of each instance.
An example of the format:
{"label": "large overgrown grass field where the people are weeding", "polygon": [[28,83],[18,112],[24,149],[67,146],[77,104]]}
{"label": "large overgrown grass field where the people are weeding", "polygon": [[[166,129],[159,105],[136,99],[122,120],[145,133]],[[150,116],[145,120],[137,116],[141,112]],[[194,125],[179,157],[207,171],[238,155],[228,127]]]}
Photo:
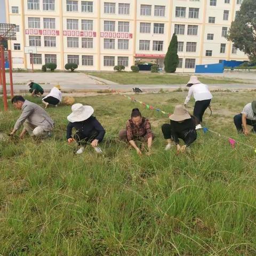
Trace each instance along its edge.
{"label": "large overgrown grass field where the people are weeding", "polygon": [[[171,112],[185,92],[135,95]],[[233,115],[250,93],[214,92],[210,129],[238,135]],[[27,97],[27,99],[31,99]],[[39,103],[39,100],[34,100]],[[74,155],[65,139],[70,107],[49,108],[52,138],[1,141],[1,255],[255,255],[255,153],[210,132],[198,132],[191,153],[164,151],[162,113],[121,95],[77,98],[92,105],[106,128],[97,156]],[[193,108],[193,102],[189,104]],[[153,155],[139,157],[117,140],[131,109],[139,107],[156,134]],[[1,106],[2,108],[2,106]],[[1,112],[0,132],[11,131],[20,111]]]}

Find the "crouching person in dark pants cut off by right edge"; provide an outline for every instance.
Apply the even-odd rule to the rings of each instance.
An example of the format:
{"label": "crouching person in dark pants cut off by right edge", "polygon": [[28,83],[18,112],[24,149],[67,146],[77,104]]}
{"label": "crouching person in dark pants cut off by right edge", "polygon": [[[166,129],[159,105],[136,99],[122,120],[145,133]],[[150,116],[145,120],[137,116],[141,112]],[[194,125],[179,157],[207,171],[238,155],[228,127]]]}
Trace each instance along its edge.
{"label": "crouching person in dark pants cut off by right edge", "polygon": [[234,123],[238,133],[249,134],[247,125],[253,126],[252,131],[256,132],[256,101],[245,105],[241,114],[234,116]]}

